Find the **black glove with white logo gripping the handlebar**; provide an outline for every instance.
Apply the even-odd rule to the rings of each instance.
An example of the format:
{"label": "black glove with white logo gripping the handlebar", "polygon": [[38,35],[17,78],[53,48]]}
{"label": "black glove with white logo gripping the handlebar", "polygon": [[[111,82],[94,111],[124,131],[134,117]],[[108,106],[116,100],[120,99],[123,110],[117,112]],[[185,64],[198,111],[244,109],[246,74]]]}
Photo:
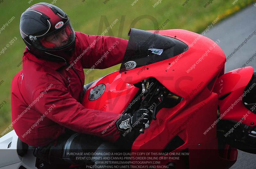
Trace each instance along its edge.
{"label": "black glove with white logo gripping the handlebar", "polygon": [[120,118],[116,121],[116,127],[118,130],[125,132],[126,130],[148,128],[149,121],[151,119],[152,112],[147,109],[139,109],[133,113],[122,114]]}

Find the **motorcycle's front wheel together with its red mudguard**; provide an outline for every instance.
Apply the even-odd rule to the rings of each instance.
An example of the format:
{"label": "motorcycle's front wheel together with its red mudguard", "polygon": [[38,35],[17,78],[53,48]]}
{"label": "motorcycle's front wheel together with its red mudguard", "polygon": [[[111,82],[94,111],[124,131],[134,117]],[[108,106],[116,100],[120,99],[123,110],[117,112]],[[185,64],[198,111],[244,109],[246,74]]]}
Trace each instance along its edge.
{"label": "motorcycle's front wheel together with its red mudguard", "polygon": [[222,75],[214,88],[219,96],[218,137],[223,142],[256,154],[255,74],[252,67]]}

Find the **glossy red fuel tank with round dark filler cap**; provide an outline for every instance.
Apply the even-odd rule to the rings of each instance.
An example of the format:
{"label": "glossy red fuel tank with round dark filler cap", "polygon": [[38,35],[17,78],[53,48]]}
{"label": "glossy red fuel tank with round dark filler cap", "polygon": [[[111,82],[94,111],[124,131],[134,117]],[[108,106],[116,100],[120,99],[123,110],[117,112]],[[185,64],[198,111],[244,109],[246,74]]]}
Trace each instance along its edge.
{"label": "glossy red fuel tank with round dark filler cap", "polygon": [[101,77],[85,92],[85,108],[121,113],[132,101],[139,88],[125,83],[119,71]]}

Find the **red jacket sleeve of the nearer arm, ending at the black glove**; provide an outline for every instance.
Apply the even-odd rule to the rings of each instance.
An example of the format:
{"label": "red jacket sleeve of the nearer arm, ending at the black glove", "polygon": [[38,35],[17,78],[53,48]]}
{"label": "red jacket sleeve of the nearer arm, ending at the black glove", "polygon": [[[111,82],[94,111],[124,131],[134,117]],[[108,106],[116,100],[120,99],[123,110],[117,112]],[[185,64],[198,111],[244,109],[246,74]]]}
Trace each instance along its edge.
{"label": "red jacket sleeve of the nearer arm, ending at the black glove", "polygon": [[104,137],[112,142],[120,136],[115,124],[118,114],[84,108],[62,84],[36,89],[33,100],[38,100],[35,103],[36,111],[68,129]]}

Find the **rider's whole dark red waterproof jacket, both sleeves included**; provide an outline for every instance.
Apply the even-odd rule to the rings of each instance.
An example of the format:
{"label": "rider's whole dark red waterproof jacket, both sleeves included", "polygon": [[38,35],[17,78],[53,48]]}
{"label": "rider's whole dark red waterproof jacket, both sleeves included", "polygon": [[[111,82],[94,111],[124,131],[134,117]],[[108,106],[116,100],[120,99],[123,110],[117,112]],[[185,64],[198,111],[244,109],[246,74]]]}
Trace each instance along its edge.
{"label": "rider's whole dark red waterproof jacket, both sleeves included", "polygon": [[[40,60],[25,49],[22,70],[14,76],[11,86],[12,125],[23,142],[44,146],[63,134],[65,128],[105,137],[112,142],[118,139],[120,132],[115,125],[101,133],[116,119],[116,113],[99,113],[100,110],[85,109],[80,103],[83,68],[94,65],[96,69],[104,69],[121,63],[128,43],[125,39],[107,36],[96,41],[97,37],[76,32],[75,56],[69,64],[77,62],[69,69],[65,63]],[[119,44],[113,49],[111,46],[116,41]],[[106,56],[109,48],[113,50]],[[99,115],[94,122],[87,125],[96,114]]]}

